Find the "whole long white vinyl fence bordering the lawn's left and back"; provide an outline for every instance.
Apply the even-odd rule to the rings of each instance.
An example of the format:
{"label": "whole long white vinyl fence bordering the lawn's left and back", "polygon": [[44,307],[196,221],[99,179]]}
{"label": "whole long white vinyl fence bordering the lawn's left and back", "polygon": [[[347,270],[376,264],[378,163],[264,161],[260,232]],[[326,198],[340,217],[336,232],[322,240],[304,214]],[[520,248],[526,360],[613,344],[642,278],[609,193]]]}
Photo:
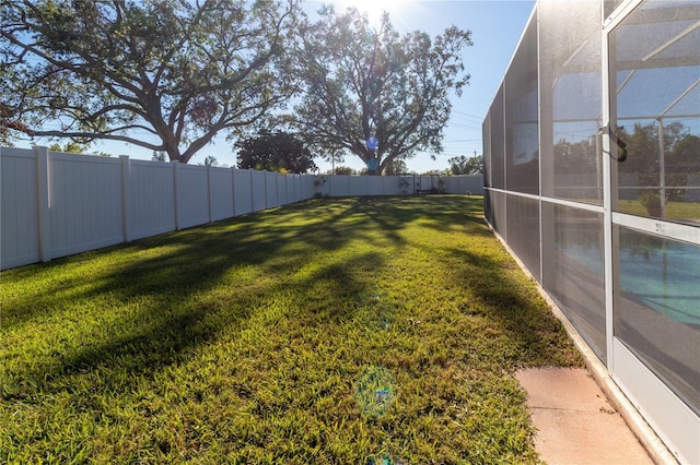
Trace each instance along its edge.
{"label": "whole long white vinyl fence bordering the lawn's left and back", "polygon": [[477,193],[481,176],[314,176],[0,147],[0,270],[314,195]]}

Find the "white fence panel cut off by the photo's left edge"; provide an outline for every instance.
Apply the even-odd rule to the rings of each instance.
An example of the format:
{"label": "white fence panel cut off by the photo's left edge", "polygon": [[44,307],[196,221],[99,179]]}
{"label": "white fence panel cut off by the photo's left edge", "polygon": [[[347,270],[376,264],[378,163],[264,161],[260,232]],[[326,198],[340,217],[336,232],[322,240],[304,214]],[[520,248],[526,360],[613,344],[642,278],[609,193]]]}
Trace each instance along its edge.
{"label": "white fence panel cut off by the photo's left edge", "polygon": [[39,255],[37,157],[0,147],[0,269],[35,263]]}

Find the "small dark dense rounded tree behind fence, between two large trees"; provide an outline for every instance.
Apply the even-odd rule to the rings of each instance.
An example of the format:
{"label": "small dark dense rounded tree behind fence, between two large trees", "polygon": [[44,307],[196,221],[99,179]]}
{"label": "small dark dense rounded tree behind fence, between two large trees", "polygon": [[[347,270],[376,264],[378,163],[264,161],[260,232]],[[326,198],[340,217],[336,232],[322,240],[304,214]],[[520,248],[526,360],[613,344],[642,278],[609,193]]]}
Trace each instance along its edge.
{"label": "small dark dense rounded tree behind fence, between two large trees", "polygon": [[287,132],[262,131],[258,136],[238,141],[236,158],[241,169],[261,169],[304,174],[316,164],[304,142]]}

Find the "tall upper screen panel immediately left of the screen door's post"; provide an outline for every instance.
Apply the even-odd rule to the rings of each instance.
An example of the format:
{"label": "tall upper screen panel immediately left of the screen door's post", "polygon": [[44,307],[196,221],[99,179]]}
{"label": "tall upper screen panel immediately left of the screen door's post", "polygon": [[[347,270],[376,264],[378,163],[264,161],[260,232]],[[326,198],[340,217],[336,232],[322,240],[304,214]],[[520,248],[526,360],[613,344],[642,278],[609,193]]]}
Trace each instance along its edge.
{"label": "tall upper screen panel immediately left of the screen door's post", "polygon": [[542,193],[603,203],[600,8],[539,7]]}

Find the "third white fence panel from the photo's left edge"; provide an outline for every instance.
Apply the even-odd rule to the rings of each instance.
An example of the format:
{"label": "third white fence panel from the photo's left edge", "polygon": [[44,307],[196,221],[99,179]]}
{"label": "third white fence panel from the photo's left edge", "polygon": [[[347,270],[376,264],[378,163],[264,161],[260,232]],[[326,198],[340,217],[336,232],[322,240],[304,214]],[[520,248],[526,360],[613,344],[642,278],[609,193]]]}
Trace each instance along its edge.
{"label": "third white fence panel from the photo's left edge", "polygon": [[128,174],[128,240],[175,230],[173,164],[130,159]]}

